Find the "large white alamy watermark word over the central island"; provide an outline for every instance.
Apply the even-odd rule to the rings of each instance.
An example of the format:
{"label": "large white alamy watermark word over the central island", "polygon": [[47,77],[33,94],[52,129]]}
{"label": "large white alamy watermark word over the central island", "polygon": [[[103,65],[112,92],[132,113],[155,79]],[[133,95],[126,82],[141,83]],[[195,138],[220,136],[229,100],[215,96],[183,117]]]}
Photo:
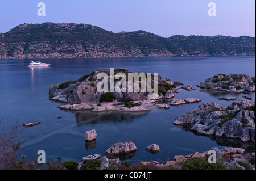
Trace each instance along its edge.
{"label": "large white alamy watermark word over the central island", "polygon": [[[97,91],[103,92],[128,92],[139,93],[148,92],[148,99],[155,99],[158,96],[158,73],[132,73],[127,74],[119,72],[115,74],[114,68],[110,68],[110,75],[101,72],[97,75],[97,79],[101,80],[97,84]],[[118,80],[118,81],[117,81]],[[116,83],[115,83],[116,82]],[[153,87],[152,87],[153,85]],[[141,89],[140,89],[141,88]]]}

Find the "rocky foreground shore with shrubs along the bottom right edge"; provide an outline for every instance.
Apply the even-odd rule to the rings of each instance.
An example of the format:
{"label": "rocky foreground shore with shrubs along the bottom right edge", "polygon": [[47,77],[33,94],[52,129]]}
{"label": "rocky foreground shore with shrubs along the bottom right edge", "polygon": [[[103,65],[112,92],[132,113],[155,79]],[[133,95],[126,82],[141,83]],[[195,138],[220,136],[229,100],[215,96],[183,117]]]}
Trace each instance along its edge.
{"label": "rocky foreground shore with shrubs along the bottom right edge", "polygon": [[[154,145],[154,144],[153,144]],[[151,145],[150,145],[151,146]],[[216,163],[209,163],[208,159],[214,150]],[[242,148],[229,148],[228,150],[210,149],[204,153],[196,152],[189,155],[175,155],[171,161],[159,163],[157,161],[141,161],[138,164],[122,162],[117,157],[100,158],[100,170],[253,170],[255,169],[255,152],[245,153]]]}

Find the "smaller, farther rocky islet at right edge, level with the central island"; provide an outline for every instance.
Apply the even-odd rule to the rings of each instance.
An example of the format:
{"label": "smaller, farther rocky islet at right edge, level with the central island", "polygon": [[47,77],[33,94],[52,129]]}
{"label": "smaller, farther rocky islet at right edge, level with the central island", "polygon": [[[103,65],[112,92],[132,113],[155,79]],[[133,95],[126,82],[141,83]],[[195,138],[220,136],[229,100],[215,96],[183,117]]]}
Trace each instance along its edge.
{"label": "smaller, farther rocky islet at right edge, level with the central island", "polygon": [[218,74],[197,85],[206,90],[221,90],[225,92],[255,92],[255,77],[246,74]]}

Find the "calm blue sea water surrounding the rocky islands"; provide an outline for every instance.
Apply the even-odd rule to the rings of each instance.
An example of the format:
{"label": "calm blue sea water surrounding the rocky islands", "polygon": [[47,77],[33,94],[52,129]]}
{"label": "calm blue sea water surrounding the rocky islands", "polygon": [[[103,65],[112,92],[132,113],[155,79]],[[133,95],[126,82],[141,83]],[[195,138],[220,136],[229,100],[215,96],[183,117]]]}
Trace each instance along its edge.
{"label": "calm blue sea water surrounding the rocky islands", "polygon": [[[228,106],[232,102],[218,100],[245,94],[200,92],[201,81],[216,74],[247,74],[255,76],[255,56],[246,57],[157,57],[157,58],[97,58],[97,59],[46,59],[49,68],[29,68],[30,60],[0,61],[0,128],[11,124],[40,121],[35,127],[25,128],[26,153],[36,156],[38,150],[46,151],[47,161],[61,157],[63,161],[82,161],[82,157],[105,151],[117,141],[131,140],[137,146],[135,155],[128,161],[166,161],[175,155],[188,155],[208,151],[212,146],[241,146],[255,149],[252,144],[238,140],[199,136],[185,128],[173,125],[176,117],[197,108],[202,103],[216,102]],[[196,104],[170,107],[170,110],[151,110],[146,113],[118,113],[90,111],[63,111],[61,103],[48,100],[49,86],[74,81],[94,70],[128,68],[130,71],[159,73],[162,78],[178,80],[196,90],[179,89],[175,98],[199,98]],[[255,101],[255,93],[251,93]],[[62,116],[62,119],[57,117]],[[85,144],[84,133],[96,129],[96,142]],[[2,129],[1,129],[2,131]],[[151,154],[146,147],[160,146],[159,154]],[[128,159],[128,158],[125,158]]]}

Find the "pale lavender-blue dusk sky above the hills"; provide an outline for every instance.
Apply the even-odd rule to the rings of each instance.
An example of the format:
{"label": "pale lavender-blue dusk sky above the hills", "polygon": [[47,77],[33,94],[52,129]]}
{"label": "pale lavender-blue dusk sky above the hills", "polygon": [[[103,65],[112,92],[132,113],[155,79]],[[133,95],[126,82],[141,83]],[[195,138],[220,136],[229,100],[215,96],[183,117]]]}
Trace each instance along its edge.
{"label": "pale lavender-blue dusk sky above the hills", "polygon": [[[39,2],[46,16],[38,16]],[[208,3],[216,3],[209,16]],[[144,30],[172,35],[253,36],[255,0],[0,0],[0,32],[23,23],[85,23],[115,33]]]}

